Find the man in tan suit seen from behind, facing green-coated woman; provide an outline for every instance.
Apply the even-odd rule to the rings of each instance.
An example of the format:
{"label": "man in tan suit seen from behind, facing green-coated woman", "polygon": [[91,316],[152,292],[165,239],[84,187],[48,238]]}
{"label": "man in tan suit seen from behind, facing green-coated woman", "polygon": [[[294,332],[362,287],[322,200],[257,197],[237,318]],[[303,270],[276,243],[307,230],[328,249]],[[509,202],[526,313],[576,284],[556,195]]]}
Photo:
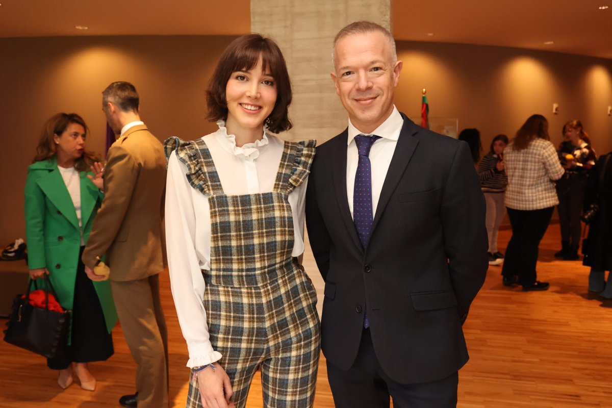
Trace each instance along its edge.
{"label": "man in tan suit seen from behind, facing green-coated woman", "polygon": [[162,143],[140,121],[138,107],[130,83],[115,82],[102,92],[102,110],[119,138],[108,150],[105,196],[83,262],[88,276],[101,280],[92,270],[96,257],[106,257],[119,321],[138,365],[137,392],[119,403],[167,408],[168,336],[159,297],[166,159]]}

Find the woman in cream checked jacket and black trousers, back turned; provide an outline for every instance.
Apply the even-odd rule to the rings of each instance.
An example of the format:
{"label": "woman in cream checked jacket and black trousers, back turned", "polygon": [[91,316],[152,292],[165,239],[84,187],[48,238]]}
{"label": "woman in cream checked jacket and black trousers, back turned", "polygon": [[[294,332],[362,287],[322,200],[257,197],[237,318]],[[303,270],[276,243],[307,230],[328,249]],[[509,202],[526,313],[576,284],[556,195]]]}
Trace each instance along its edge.
{"label": "woman in cream checked jacket and black trousers, back turned", "polygon": [[532,115],[504,149],[508,175],[505,204],[512,225],[502,268],[505,286],[520,284],[523,291],[546,291],[550,284],[537,280],[535,266],[540,240],[553,209],[559,204],[554,180],[563,176],[557,152],[548,136],[548,121]]}

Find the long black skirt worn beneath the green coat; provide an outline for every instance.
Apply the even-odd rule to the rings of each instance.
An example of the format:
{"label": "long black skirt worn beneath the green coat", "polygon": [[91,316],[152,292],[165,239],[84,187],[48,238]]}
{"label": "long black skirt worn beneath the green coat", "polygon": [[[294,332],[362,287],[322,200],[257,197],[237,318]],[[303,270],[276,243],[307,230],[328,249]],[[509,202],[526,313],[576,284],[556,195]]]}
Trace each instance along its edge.
{"label": "long black skirt worn beneath the green coat", "polygon": [[67,369],[70,363],[101,362],[113,355],[113,338],[106,330],[106,321],[94,283],[87,277],[78,256],[75,294],[72,305],[72,332],[70,346],[61,355],[47,358],[51,369]]}

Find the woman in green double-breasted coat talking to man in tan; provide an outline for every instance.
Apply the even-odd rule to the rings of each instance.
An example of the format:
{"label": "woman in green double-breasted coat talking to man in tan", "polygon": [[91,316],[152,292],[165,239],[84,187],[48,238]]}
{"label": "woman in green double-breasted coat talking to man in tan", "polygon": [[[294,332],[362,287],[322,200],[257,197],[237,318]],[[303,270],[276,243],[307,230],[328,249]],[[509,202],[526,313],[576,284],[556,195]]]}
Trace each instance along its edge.
{"label": "woman in green double-breasted coat talking to man in tan", "polygon": [[[108,281],[92,282],[81,253],[102,202],[102,165],[85,151],[87,125],[77,114],[58,113],[40,135],[25,187],[28,265],[32,279],[49,275],[64,310],[72,311],[69,346],[49,358],[62,388],[73,373],[85,390],[95,389],[88,362],[113,355],[111,329],[117,322]],[[94,169],[95,176],[89,168]]]}

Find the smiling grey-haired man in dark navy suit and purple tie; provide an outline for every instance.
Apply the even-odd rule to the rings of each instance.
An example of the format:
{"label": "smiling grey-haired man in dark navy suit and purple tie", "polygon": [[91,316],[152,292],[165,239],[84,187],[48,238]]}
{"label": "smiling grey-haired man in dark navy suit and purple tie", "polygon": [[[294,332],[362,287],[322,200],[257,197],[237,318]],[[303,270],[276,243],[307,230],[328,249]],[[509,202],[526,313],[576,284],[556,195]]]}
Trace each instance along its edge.
{"label": "smiling grey-haired man in dark navy suit and purple tie", "polygon": [[322,335],[338,408],[453,407],[461,325],[487,272],[485,202],[468,145],[394,105],[402,62],[359,21],[334,40],[348,128],[318,147],[306,221],[323,278]]}

